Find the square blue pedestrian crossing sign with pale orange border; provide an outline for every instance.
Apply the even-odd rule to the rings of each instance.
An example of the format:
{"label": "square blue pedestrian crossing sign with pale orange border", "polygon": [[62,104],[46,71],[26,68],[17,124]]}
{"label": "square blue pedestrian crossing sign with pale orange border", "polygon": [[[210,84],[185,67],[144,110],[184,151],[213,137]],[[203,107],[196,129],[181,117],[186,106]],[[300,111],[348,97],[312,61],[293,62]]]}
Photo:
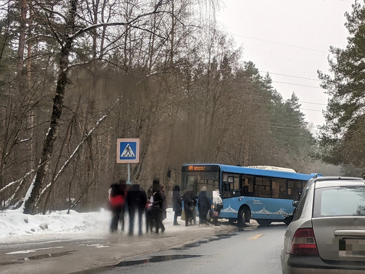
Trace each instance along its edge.
{"label": "square blue pedestrian crossing sign with pale orange border", "polygon": [[139,139],[117,139],[117,163],[139,163]]}

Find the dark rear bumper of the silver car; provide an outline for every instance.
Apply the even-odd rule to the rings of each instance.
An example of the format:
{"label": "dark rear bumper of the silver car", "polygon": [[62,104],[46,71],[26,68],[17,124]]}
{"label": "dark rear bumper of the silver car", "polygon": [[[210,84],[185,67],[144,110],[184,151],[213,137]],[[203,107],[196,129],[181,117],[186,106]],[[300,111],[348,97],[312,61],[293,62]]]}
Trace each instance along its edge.
{"label": "dark rear bumper of the silver car", "polygon": [[281,253],[283,274],[360,274],[365,262],[327,261],[319,256],[293,256]]}

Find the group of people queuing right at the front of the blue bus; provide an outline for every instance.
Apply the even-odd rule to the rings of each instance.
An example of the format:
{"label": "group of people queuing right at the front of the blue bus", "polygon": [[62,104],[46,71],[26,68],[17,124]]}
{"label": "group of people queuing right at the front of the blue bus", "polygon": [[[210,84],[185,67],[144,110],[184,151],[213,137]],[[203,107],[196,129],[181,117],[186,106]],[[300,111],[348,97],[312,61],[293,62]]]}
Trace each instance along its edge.
{"label": "group of people queuing right at the front of the blue bus", "polygon": [[[220,198],[218,189],[214,191],[212,200],[213,204],[215,205],[215,208],[217,208],[217,205],[223,205],[222,198]],[[201,224],[209,225],[207,215],[208,212],[210,213],[212,204],[210,197],[207,195],[207,188],[205,186],[196,196],[195,192],[193,191],[193,185],[191,184],[189,186],[189,189],[184,191],[183,201],[184,201],[184,213],[185,213],[185,227],[188,227],[189,225],[197,225],[196,206],[198,207],[199,211],[199,225]],[[172,208],[174,211],[174,225],[180,225],[177,222],[177,217],[182,215],[182,210],[183,210],[183,203],[181,201],[181,196],[180,196],[180,186],[174,186],[173,197],[172,197]],[[219,215],[219,210],[220,209],[216,211],[218,212],[217,215]],[[212,216],[212,219],[214,225],[219,226],[218,216]]]}

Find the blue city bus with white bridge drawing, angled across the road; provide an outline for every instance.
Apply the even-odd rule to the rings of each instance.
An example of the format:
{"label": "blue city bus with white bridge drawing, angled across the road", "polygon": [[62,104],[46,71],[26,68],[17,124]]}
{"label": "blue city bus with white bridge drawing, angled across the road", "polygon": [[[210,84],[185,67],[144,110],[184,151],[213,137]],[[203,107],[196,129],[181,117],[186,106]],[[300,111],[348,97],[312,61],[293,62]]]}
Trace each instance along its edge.
{"label": "blue city bus with white bridge drawing, angled across the road", "polygon": [[197,194],[205,186],[207,195],[212,196],[218,189],[223,200],[219,218],[237,221],[239,227],[250,219],[268,226],[271,222],[287,223],[284,219],[293,213],[293,200],[299,199],[314,175],[277,167],[186,164],[181,168],[181,191]]}

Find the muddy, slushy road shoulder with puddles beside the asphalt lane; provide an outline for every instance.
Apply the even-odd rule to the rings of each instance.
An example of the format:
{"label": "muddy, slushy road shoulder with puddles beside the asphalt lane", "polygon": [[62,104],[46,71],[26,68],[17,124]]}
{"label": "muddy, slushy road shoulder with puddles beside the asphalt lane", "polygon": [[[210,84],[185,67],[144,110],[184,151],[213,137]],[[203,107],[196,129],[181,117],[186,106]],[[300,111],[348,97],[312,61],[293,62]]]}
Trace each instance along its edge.
{"label": "muddy, slushy road shoulder with puddles beside the asphalt lane", "polygon": [[[112,265],[137,255],[166,250],[201,237],[228,233],[235,228],[237,229],[232,225],[220,227],[204,225],[204,227],[188,227],[172,232],[167,230],[159,235],[150,233],[130,237],[124,233],[116,233],[94,239],[80,235],[78,239],[60,237],[44,239],[42,242],[13,243],[1,248],[0,270],[3,274],[69,274],[93,267]],[[22,253],[27,250],[32,251]],[[47,256],[47,254],[60,256],[52,258],[52,255]],[[37,256],[41,259],[35,259]],[[28,259],[22,260],[24,258]]]}

